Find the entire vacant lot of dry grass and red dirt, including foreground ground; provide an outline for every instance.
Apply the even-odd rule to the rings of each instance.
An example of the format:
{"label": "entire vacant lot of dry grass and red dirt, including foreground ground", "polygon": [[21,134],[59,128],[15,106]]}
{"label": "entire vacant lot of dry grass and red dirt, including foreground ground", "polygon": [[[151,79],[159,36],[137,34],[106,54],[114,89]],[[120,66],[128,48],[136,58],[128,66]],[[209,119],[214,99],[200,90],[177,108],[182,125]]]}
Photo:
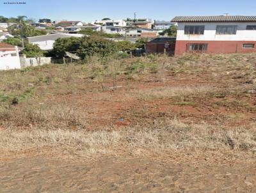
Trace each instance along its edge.
{"label": "entire vacant lot of dry grass and red dirt, including foreground ground", "polygon": [[0,75],[0,192],[256,191],[255,54]]}

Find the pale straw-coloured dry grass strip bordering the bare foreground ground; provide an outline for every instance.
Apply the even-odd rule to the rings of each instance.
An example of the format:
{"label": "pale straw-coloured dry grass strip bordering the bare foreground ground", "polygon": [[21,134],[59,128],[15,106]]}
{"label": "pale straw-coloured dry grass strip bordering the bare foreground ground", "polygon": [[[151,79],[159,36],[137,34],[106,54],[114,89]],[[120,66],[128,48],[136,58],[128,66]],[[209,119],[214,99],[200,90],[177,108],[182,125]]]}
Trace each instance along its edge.
{"label": "pale straw-coloured dry grass strip bordering the bare foreground ground", "polygon": [[220,128],[209,124],[185,124],[179,120],[158,121],[145,127],[122,130],[13,130],[0,131],[0,147],[19,151],[27,148],[51,146],[57,150],[109,153],[115,150],[138,149],[145,151],[177,150],[254,150],[255,125],[246,128]]}

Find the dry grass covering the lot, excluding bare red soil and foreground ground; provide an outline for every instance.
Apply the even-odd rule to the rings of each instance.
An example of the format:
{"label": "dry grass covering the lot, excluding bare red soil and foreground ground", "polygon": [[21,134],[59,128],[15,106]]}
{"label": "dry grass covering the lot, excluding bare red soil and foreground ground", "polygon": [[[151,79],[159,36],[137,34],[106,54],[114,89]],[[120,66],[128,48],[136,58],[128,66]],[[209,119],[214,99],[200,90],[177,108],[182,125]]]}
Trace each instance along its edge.
{"label": "dry grass covering the lot, excluding bare red soil and foreground ground", "polygon": [[[188,101],[170,100],[170,102],[193,106],[196,103],[192,100],[199,98],[198,101],[202,102],[200,107],[214,111],[215,109],[211,109],[214,104],[216,108],[227,109],[224,114],[237,119],[241,113],[237,109],[246,110],[244,113],[249,110],[255,112],[255,104],[252,102],[256,93],[255,54],[225,56],[189,54],[178,58],[154,56],[115,59],[104,61],[104,63],[97,58],[92,58],[84,65],[45,65],[0,72],[0,75],[0,102],[3,102],[0,105],[0,148],[6,150],[52,146],[58,150],[104,153],[115,152],[118,148],[127,150],[145,148],[147,151],[164,152],[244,151],[253,150],[256,147],[255,125],[245,127],[242,123],[240,127],[223,126],[222,128],[213,126],[214,123],[195,125],[172,119],[166,119],[166,121],[156,119],[155,124],[150,125],[143,120],[146,109],[145,113],[140,114],[141,120],[138,121],[140,126],[117,129],[110,128],[108,125],[104,129],[95,128],[90,131],[87,129],[88,114],[86,114],[90,109],[77,108],[79,104],[76,104],[76,100],[63,103],[54,99],[51,101],[52,98],[58,99],[60,96],[68,98],[69,95],[77,95],[77,98],[81,95],[79,100],[83,100],[84,95],[88,93],[101,93],[102,95],[97,99],[108,102],[112,98],[110,95],[105,97],[106,88],[118,86],[118,81],[126,81],[130,86],[134,82],[140,82],[141,85],[153,82],[154,87],[141,86],[141,89],[133,88],[132,90],[127,88],[127,91],[122,93],[122,96],[127,95],[127,97],[120,97],[120,102],[133,102],[131,98],[134,96],[136,100],[152,101],[182,97],[188,98]],[[157,88],[156,85],[159,82],[163,83],[167,78],[172,79],[173,82],[177,81],[180,85],[161,84]],[[185,80],[185,83],[180,80]],[[186,84],[188,82],[189,84]],[[193,97],[189,98],[190,96]],[[205,100],[206,96],[208,98]],[[226,96],[235,100],[226,100]],[[210,99],[212,99],[211,102],[208,101]],[[42,109],[38,104],[41,100],[44,102],[49,100],[47,104],[42,105]],[[117,102],[118,99],[115,101]],[[112,110],[129,112],[138,104],[141,105],[141,103],[131,104],[129,109],[122,109],[123,106],[116,105]],[[105,104],[101,105],[104,107]],[[139,105],[138,109],[142,108],[143,104]],[[235,109],[236,112],[230,109]],[[158,115],[161,113],[159,112]],[[182,114],[174,113],[173,115],[177,116],[179,113]],[[212,112],[214,113],[216,112]],[[137,115],[133,114],[134,117]],[[193,114],[189,116],[193,117]],[[218,116],[219,114],[217,118]],[[246,118],[246,116],[248,114],[240,117]],[[195,117],[202,118],[198,117],[198,114]],[[99,120],[101,118],[99,117]],[[148,119],[153,118],[156,116],[149,116]],[[198,123],[202,121],[205,120],[200,120]],[[253,121],[253,118],[250,121]]]}

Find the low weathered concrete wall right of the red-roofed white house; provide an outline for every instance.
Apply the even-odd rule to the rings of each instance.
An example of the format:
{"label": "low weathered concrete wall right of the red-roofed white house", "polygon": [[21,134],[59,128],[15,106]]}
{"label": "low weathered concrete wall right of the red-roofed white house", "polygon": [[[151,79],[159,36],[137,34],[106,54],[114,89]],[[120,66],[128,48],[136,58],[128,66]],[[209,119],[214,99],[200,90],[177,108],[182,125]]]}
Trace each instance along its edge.
{"label": "low weathered concrete wall right of the red-roofed white house", "polygon": [[51,64],[51,57],[40,57],[40,58],[26,58],[20,57],[20,67],[26,68],[28,66],[40,66]]}

